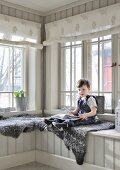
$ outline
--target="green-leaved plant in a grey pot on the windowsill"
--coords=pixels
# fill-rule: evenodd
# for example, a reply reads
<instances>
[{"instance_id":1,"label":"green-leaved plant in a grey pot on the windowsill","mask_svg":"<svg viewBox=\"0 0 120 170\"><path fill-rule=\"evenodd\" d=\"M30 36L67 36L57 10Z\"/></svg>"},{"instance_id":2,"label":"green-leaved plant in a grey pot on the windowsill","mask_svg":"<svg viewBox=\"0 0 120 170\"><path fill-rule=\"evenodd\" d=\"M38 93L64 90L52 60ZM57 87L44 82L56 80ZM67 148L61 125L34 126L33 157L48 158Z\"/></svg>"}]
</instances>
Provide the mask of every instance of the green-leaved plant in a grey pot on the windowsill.
<instances>
[{"instance_id":1,"label":"green-leaved plant in a grey pot on the windowsill","mask_svg":"<svg viewBox=\"0 0 120 170\"><path fill-rule=\"evenodd\" d=\"M23 90L14 91L13 95L16 101L16 110L17 111L26 111L27 108L27 98Z\"/></svg>"}]
</instances>

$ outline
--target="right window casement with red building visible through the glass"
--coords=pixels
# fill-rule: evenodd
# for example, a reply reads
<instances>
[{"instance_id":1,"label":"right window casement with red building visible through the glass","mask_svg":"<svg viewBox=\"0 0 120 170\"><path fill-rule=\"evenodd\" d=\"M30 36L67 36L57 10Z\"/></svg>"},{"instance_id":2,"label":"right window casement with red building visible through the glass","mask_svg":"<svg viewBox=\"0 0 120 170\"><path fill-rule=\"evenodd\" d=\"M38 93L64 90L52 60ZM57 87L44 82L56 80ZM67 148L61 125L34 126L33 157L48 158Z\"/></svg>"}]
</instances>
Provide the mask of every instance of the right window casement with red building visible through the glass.
<instances>
[{"instance_id":1,"label":"right window casement with red building visible through the glass","mask_svg":"<svg viewBox=\"0 0 120 170\"><path fill-rule=\"evenodd\" d=\"M88 43L88 78L92 93L105 96L105 109L112 109L112 40L111 35Z\"/></svg>"}]
</instances>

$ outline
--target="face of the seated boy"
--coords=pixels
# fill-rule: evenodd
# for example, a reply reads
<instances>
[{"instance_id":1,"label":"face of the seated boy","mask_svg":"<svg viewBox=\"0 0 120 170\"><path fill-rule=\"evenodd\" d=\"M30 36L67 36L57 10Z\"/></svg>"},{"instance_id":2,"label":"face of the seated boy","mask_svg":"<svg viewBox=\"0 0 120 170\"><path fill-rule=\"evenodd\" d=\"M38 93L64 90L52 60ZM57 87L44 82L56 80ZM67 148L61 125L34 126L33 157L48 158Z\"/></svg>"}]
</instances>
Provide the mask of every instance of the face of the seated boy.
<instances>
[{"instance_id":1,"label":"face of the seated boy","mask_svg":"<svg viewBox=\"0 0 120 170\"><path fill-rule=\"evenodd\" d=\"M86 85L83 85L82 87L78 88L78 94L81 96L81 97L86 97L90 92L90 89L86 86Z\"/></svg>"}]
</instances>

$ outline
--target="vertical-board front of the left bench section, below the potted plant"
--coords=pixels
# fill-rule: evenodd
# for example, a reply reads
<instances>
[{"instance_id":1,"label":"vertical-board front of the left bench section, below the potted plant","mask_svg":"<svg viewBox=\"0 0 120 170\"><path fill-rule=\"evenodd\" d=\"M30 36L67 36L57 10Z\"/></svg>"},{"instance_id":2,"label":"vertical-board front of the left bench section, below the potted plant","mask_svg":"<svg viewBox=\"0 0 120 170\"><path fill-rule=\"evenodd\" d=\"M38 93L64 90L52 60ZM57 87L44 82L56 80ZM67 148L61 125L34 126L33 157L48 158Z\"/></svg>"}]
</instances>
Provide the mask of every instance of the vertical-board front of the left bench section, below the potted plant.
<instances>
[{"instance_id":1,"label":"vertical-board front of the left bench section, below the potted plant","mask_svg":"<svg viewBox=\"0 0 120 170\"><path fill-rule=\"evenodd\" d=\"M0 157L35 150L35 131L22 133L18 138L0 134Z\"/></svg>"}]
</instances>

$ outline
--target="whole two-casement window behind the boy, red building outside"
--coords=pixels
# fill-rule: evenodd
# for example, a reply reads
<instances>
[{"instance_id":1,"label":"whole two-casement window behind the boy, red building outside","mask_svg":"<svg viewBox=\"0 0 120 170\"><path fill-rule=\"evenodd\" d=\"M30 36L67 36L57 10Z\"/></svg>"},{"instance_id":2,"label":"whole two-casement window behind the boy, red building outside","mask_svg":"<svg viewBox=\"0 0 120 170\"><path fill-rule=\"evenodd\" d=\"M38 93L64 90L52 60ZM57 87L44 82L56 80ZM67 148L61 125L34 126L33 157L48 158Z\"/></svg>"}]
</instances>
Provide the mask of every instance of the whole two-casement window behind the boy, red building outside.
<instances>
[{"instance_id":1,"label":"whole two-casement window behind the boy, red building outside","mask_svg":"<svg viewBox=\"0 0 120 170\"><path fill-rule=\"evenodd\" d=\"M85 55L82 53L83 50L85 50ZM76 82L82 77L88 77L92 86L92 94L105 96L105 109L112 110L111 66L111 35L85 42L63 44L61 46L60 106L76 106L78 97Z\"/></svg>"}]
</instances>

